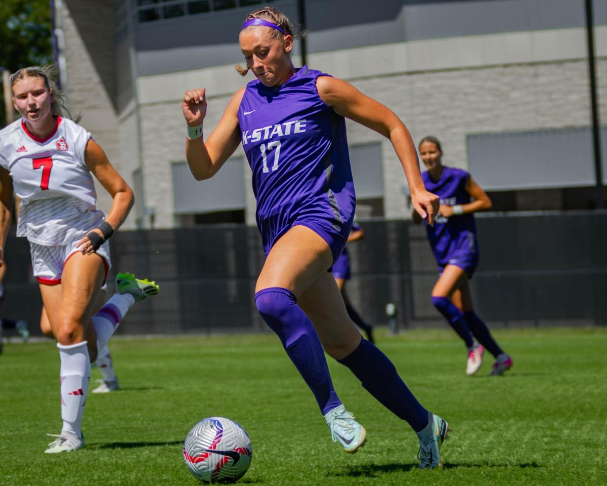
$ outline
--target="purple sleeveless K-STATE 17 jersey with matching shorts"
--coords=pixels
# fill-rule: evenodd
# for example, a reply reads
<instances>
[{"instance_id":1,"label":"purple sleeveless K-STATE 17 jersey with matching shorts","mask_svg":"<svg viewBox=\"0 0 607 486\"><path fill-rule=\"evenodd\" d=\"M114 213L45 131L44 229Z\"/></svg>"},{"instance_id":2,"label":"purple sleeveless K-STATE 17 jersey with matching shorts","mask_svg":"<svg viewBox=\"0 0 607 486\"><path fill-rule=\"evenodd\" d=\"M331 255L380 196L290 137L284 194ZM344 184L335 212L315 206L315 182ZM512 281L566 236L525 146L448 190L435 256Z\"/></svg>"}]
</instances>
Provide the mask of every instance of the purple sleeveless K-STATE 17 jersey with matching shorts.
<instances>
[{"instance_id":1,"label":"purple sleeveless K-STATE 17 jersey with matching shorts","mask_svg":"<svg viewBox=\"0 0 607 486\"><path fill-rule=\"evenodd\" d=\"M257 226L266 255L282 234L307 225L345 242L356 197L345 119L320 99L302 67L282 86L246 85L238 110L242 146L253 171ZM330 239L330 238L329 238ZM341 248L333 248L334 258Z\"/></svg>"}]
</instances>

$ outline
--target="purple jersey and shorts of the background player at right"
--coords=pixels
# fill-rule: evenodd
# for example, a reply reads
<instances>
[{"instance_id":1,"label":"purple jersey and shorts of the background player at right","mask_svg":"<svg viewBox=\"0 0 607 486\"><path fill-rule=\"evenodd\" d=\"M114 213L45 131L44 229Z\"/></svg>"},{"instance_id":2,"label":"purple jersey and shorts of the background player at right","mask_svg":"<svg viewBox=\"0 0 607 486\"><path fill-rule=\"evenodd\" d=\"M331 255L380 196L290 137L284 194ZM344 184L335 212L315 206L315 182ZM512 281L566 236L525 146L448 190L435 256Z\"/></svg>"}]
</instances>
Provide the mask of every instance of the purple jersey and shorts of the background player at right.
<instances>
[{"instance_id":1,"label":"purple jersey and shorts of the background player at right","mask_svg":"<svg viewBox=\"0 0 607 486\"><path fill-rule=\"evenodd\" d=\"M439 180L432 179L427 171L421 177L426 190L440 197L442 205L455 206L470 202L470 194L466 191L470 174L466 171L444 167ZM449 218L438 214L434 219L434 226L430 226L425 220L424 222L432 252L439 266L455 264L459 259L478 253L476 225L472 214L459 214Z\"/></svg>"}]
</instances>

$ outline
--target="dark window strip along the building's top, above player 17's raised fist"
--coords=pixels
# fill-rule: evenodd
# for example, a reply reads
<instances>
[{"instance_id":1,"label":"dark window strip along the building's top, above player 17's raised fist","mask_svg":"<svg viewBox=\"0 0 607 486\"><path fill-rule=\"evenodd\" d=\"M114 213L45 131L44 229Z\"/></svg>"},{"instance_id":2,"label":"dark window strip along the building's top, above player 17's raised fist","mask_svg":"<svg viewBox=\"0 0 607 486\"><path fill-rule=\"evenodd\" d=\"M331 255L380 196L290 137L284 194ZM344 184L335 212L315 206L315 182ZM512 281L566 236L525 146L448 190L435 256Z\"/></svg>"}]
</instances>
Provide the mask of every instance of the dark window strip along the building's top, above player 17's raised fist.
<instances>
[{"instance_id":1,"label":"dark window strip along the building's top, above player 17's raised fist","mask_svg":"<svg viewBox=\"0 0 607 486\"><path fill-rule=\"evenodd\" d=\"M132 0L135 2L137 21L155 22L184 15L220 12L222 10L269 4L274 0Z\"/></svg>"}]
</instances>

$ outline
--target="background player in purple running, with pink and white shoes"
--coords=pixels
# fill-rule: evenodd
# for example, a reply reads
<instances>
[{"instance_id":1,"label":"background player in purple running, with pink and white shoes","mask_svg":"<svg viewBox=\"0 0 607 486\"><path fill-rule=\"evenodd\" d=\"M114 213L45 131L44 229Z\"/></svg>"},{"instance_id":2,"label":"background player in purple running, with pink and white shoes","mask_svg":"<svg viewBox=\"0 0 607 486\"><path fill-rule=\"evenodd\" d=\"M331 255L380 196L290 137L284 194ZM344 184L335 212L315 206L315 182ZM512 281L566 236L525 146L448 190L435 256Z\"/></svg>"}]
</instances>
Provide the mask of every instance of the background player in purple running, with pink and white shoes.
<instances>
[{"instance_id":1,"label":"background player in purple running, with pink and white shoes","mask_svg":"<svg viewBox=\"0 0 607 486\"><path fill-rule=\"evenodd\" d=\"M426 225L430 246L441 271L432 290L432 303L466 343L466 373L473 375L478 371L484 349L487 349L495 357L491 374L501 375L512 367L512 358L498 346L489 328L474 312L468 283L478 265L473 213L489 209L491 200L469 173L443 165L443 149L436 137L421 140L419 155L428 168L422 174L424 186L441 197L435 224ZM421 222L415 211L413 220Z\"/></svg>"}]
</instances>

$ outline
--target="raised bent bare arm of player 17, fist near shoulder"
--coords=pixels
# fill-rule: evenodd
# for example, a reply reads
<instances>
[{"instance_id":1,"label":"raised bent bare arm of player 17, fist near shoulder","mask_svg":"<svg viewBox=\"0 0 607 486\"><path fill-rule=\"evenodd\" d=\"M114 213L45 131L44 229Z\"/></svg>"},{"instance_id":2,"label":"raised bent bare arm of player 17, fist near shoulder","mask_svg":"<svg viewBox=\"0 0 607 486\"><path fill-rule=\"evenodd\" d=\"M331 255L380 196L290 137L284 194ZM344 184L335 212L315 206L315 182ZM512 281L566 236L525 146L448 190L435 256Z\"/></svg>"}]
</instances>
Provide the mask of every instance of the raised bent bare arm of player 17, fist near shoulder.
<instances>
[{"instance_id":1,"label":"raised bent bare arm of player 17, fist near shoulder","mask_svg":"<svg viewBox=\"0 0 607 486\"><path fill-rule=\"evenodd\" d=\"M241 89L232 96L222 118L208 139L204 136L186 139L186 159L192 176L196 180L209 179L222 168L240 143L238 108L245 93ZM185 92L181 101L181 110L188 126L202 126L206 115L205 89L192 89Z\"/></svg>"}]
</instances>

